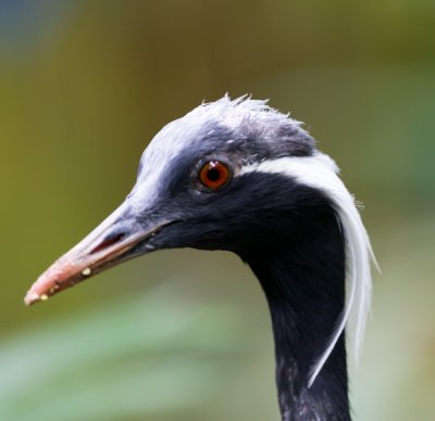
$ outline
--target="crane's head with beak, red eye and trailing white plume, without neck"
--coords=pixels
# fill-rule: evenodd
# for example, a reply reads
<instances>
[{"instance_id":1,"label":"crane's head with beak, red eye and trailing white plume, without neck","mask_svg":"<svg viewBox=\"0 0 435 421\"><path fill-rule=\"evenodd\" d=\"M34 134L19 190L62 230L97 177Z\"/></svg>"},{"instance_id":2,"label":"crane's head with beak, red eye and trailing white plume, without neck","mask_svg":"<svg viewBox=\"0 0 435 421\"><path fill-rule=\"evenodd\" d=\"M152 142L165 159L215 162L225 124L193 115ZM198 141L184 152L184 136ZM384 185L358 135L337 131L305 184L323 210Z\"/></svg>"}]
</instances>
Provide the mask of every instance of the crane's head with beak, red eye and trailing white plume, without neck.
<instances>
[{"instance_id":1,"label":"crane's head with beak, red eye and trailing white plume, without neck","mask_svg":"<svg viewBox=\"0 0 435 421\"><path fill-rule=\"evenodd\" d=\"M322 209L334 212L343 231L346 303L314 379L349 316L359 348L373 255L333 160L299 122L265 101L226 95L166 125L145 150L125 201L37 279L25 303L157 250L226 250L249 261L253 254L278 253L284 239L297 247L320 228Z\"/></svg>"}]
</instances>

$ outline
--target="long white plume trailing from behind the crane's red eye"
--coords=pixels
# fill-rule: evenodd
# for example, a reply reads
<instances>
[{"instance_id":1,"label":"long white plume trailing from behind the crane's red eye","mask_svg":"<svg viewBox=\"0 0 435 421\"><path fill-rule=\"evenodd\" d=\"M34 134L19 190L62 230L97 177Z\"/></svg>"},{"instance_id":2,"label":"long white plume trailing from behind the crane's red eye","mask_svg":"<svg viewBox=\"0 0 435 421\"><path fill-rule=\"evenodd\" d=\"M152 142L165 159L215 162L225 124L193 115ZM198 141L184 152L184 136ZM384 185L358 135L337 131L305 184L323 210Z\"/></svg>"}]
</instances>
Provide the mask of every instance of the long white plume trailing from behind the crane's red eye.
<instances>
[{"instance_id":1,"label":"long white plume trailing from behind the crane's red eye","mask_svg":"<svg viewBox=\"0 0 435 421\"><path fill-rule=\"evenodd\" d=\"M372 279L370 263L375 260L369 235L362 224L356 202L338 177L338 167L327 155L316 153L307 157L283 157L243 168L240 174L260 171L283 174L300 183L324 191L332 200L346 241L346 303L328 345L312 367L310 387L330 357L345 326L351 326L355 357L358 362L370 311Z\"/></svg>"}]
</instances>

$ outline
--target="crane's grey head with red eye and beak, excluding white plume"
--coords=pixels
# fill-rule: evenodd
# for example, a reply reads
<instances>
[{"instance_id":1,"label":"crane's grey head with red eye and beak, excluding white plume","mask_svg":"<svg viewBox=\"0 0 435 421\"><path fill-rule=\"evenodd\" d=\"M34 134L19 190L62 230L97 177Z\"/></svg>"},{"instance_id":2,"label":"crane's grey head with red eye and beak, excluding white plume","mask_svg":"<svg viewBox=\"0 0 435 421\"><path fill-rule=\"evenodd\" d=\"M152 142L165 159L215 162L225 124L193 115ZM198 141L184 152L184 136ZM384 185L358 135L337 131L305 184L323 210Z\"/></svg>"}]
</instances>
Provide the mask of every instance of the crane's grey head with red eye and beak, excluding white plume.
<instances>
[{"instance_id":1,"label":"crane's grey head with red eye and beak, excluding white plume","mask_svg":"<svg viewBox=\"0 0 435 421\"><path fill-rule=\"evenodd\" d=\"M263 102L225 98L194 110L156 136L124 203L41 275L26 303L156 250L241 254L262 246L278 234L276 213L298 208L310 195L288 178L283 191L279 171L265 177L258 166L313 151L297 122Z\"/></svg>"}]
</instances>

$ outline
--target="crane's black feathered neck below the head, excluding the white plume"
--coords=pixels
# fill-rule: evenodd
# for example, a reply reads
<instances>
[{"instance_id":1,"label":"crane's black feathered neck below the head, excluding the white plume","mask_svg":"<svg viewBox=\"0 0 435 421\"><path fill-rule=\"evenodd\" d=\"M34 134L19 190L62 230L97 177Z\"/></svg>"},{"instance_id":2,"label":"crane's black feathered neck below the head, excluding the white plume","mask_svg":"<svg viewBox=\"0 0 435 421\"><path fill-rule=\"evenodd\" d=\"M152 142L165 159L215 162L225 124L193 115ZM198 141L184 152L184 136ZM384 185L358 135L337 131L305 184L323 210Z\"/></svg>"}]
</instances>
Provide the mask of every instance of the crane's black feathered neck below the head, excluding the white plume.
<instances>
[{"instance_id":1,"label":"crane's black feathered neck below the head, excluding the white plume","mask_svg":"<svg viewBox=\"0 0 435 421\"><path fill-rule=\"evenodd\" d=\"M285 231L285 228L284 228ZM264 242L245 258L268 297L275 339L276 384L283 421L350 420L345 335L311 387L308 381L325 350L345 303L345 252L332 212L315 227ZM288 238L291 238L288 240Z\"/></svg>"}]
</instances>

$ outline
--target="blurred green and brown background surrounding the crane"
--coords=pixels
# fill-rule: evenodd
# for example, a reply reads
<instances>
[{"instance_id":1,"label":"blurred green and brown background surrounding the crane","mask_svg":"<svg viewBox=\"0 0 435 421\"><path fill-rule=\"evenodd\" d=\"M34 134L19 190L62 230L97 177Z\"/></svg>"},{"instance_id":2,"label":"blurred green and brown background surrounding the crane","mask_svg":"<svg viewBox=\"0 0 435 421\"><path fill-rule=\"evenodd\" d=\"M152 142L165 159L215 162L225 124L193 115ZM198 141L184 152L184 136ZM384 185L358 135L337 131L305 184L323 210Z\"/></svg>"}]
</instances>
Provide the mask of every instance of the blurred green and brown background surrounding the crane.
<instances>
[{"instance_id":1,"label":"blurred green and brown background surrounding the crane","mask_svg":"<svg viewBox=\"0 0 435 421\"><path fill-rule=\"evenodd\" d=\"M0 0L0 420L275 420L262 292L170 251L23 296L129 191L165 123L270 98L339 164L375 275L356 420L435 419L435 2Z\"/></svg>"}]
</instances>

